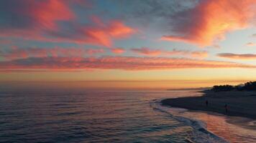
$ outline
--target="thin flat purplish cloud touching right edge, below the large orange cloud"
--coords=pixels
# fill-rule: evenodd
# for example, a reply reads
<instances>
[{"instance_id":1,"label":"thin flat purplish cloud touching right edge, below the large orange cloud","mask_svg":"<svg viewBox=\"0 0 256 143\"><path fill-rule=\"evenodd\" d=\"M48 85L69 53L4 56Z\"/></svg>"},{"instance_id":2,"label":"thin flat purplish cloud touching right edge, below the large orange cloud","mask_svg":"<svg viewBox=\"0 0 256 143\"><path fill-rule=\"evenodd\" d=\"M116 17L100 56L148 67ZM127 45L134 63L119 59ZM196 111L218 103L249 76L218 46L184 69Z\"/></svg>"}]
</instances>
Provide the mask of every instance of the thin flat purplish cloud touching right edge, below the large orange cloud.
<instances>
[{"instance_id":1,"label":"thin flat purplish cloud touching right edge, below the large orange cloud","mask_svg":"<svg viewBox=\"0 0 256 143\"><path fill-rule=\"evenodd\" d=\"M244 60L256 59L256 54L221 53L221 54L217 54L217 56L221 58L228 58L228 59L244 59Z\"/></svg>"}]
</instances>

